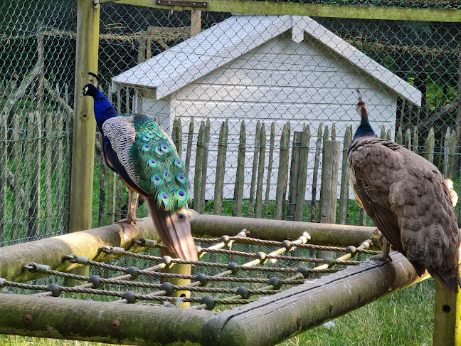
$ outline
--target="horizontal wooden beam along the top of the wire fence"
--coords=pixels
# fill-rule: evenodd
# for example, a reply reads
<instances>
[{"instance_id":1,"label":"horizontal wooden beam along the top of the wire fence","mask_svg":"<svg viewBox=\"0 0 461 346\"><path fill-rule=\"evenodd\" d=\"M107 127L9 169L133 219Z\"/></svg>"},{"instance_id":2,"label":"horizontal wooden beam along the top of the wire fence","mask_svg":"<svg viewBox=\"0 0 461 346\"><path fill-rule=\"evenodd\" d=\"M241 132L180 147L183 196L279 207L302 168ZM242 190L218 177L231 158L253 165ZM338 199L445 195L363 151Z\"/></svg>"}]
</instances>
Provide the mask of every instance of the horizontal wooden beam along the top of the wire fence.
<instances>
[{"instance_id":1,"label":"horizontal wooden beam along the top of the wire fence","mask_svg":"<svg viewBox=\"0 0 461 346\"><path fill-rule=\"evenodd\" d=\"M113 0L100 0L100 3ZM451 9L408 9L404 7L302 4L295 2L206 0L203 11L234 12L243 14L272 14L290 16L387 19L391 21L445 21L460 22L461 11ZM190 6L163 6L152 0L119 0L119 4L156 7L174 11L196 10Z\"/></svg>"}]
</instances>

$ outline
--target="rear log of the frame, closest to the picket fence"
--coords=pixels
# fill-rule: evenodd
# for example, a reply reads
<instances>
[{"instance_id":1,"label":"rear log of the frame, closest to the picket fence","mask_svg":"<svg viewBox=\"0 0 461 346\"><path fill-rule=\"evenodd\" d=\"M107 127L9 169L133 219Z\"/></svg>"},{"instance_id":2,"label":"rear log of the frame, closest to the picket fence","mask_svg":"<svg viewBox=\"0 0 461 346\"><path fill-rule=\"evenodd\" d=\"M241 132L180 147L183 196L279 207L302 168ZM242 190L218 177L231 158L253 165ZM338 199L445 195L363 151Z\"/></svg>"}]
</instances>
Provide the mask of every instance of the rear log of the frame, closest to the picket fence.
<instances>
[{"instance_id":1,"label":"rear log of the frame, closest to the picket fence","mask_svg":"<svg viewBox=\"0 0 461 346\"><path fill-rule=\"evenodd\" d=\"M297 239L303 232L310 234L312 242L328 246L359 246L364 240L376 238L376 227L319 224L317 222L254 219L235 216L202 214L191 219L192 234L219 238L233 236L247 229L250 237L284 241ZM376 238L377 240L377 238ZM378 243L374 243L378 246Z\"/></svg>"}]
</instances>

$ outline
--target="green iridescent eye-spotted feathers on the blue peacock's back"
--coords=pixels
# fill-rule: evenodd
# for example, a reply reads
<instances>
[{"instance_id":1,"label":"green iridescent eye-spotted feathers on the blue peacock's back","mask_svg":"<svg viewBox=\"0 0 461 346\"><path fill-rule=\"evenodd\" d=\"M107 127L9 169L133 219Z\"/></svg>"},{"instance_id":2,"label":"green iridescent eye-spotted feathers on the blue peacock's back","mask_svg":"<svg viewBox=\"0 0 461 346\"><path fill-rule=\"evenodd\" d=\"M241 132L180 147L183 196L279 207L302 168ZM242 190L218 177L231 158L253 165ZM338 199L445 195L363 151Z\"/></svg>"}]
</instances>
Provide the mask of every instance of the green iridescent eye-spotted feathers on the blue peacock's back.
<instances>
[{"instance_id":1,"label":"green iridescent eye-spotted feathers on the blue peacock's back","mask_svg":"<svg viewBox=\"0 0 461 346\"><path fill-rule=\"evenodd\" d=\"M136 115L133 125L136 138L129 153L139 174L139 187L157 200L159 209L187 207L190 182L174 144L157 122L145 115Z\"/></svg>"}]
</instances>

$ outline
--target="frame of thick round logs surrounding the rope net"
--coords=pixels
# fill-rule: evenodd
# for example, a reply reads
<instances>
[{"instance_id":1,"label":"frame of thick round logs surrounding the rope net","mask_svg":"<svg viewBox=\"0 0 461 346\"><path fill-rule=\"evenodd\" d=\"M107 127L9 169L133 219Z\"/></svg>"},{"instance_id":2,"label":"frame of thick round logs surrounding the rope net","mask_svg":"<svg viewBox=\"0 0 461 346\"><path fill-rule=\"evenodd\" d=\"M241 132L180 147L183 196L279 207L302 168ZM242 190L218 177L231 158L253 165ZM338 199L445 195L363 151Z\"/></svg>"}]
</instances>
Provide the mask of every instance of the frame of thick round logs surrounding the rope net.
<instances>
[{"instance_id":1,"label":"frame of thick round logs surrounding the rope net","mask_svg":"<svg viewBox=\"0 0 461 346\"><path fill-rule=\"evenodd\" d=\"M363 236L376 236L374 227L208 216L194 211L191 211L191 218L196 236L216 235L223 230L235 234L242 224L252 236L262 235L260 230L267 228L278 229L280 238L293 238L309 231L315 238L323 239L319 243L334 242L339 246L349 241L358 244ZM211 234L211 229L207 228L210 224L220 225L220 228ZM281 224L286 227L280 229ZM347 237L334 241L337 234ZM272 232L265 235L263 238L270 239ZM107 261L115 256L101 252L100 246L139 252L145 250L134 243L139 238L159 239L149 218L142 219L136 226L113 224L0 248L0 258L5 258L0 276L16 282L43 276L23 270L30 262L46 263L52 270L71 270L78 265L62 259L63 253L69 251L88 256L92 261ZM48 251L50 248L53 251ZM3 295L0 333L124 345L152 345L152 342L156 345L189 345L189 342L190 345L275 345L428 277L427 274L418 277L401 253L393 253L392 257L393 262L366 261L222 313Z\"/></svg>"}]
</instances>

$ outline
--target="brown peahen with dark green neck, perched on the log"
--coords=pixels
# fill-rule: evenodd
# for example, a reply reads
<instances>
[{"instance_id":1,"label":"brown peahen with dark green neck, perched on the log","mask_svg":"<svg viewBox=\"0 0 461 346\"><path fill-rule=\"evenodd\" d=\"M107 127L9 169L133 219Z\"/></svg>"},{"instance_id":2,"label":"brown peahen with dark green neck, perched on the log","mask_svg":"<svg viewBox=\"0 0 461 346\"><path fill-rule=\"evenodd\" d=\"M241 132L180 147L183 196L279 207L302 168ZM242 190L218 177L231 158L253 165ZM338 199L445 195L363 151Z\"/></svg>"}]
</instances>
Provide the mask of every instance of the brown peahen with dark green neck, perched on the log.
<instances>
[{"instance_id":1,"label":"brown peahen with dark green neck, perched on the log","mask_svg":"<svg viewBox=\"0 0 461 346\"><path fill-rule=\"evenodd\" d=\"M461 238L447 182L428 160L376 137L357 93L361 122L347 150L349 182L357 204L387 239L376 259L392 261L390 243L419 276L427 269L445 290L457 293Z\"/></svg>"}]
</instances>

